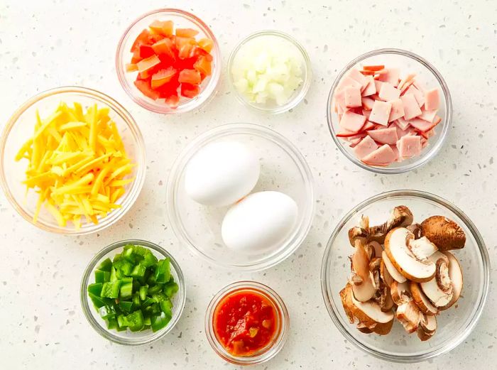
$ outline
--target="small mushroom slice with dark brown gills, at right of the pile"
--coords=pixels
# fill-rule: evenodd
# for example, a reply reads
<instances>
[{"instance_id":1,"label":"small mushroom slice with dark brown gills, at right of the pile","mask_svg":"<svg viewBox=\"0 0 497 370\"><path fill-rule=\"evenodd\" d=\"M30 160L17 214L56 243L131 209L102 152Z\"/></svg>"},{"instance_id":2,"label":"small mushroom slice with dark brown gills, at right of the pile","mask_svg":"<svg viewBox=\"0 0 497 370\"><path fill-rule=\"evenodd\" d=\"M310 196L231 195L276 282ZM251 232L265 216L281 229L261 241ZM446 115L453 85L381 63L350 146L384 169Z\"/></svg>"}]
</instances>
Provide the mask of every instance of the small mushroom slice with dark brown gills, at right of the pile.
<instances>
[{"instance_id":1,"label":"small mushroom slice with dark brown gills, at right of the pile","mask_svg":"<svg viewBox=\"0 0 497 370\"><path fill-rule=\"evenodd\" d=\"M449 266L444 259L439 259L436 264L435 277L421 283L421 289L435 307L444 307L452 300L452 281L449 277Z\"/></svg>"}]
</instances>

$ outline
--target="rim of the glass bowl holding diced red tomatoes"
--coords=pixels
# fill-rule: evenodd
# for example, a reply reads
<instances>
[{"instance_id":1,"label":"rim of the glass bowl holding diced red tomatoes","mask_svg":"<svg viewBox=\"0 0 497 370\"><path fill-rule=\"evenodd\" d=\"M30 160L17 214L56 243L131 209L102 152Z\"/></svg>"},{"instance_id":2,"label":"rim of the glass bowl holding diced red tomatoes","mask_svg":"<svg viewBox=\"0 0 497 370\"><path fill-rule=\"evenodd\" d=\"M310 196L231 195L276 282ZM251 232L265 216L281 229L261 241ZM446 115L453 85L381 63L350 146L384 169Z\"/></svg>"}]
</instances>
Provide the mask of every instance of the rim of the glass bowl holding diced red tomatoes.
<instances>
[{"instance_id":1,"label":"rim of the glass bowl holding diced red tomatoes","mask_svg":"<svg viewBox=\"0 0 497 370\"><path fill-rule=\"evenodd\" d=\"M203 87L203 89L200 91L200 94L198 95L200 97L200 95L204 94L204 97L202 97L202 99L198 99L195 104L191 105L190 107L187 107L186 109L184 107L188 103L190 103L191 100L185 102L184 104L178 105L178 107L175 109L171 109L170 107L168 107L167 104L164 104L162 108L156 107L153 104L146 102L146 100L142 100L136 97L135 94L131 92L131 88L128 86L128 83L126 82L126 72L124 72L122 67L124 62L123 60L124 40L138 22L142 21L144 18L148 16L154 16L159 13L169 13L175 16L179 16L180 18L187 19L187 21L190 21L194 23L196 26L199 26L202 32L204 32L209 38L211 38L212 41L214 41L214 48L212 48L212 57L214 58L214 68L212 69L212 75L210 76L210 80L209 82L207 82L207 85ZM221 77L222 58L217 38L216 36L214 36L214 33L212 32L211 28L207 25L207 23L205 23L204 21L202 21L202 19L195 16L195 14L190 13L189 11L184 11L182 9L175 9L175 8L160 8L148 11L147 13L143 13L141 16L139 16L134 21L132 21L131 24L126 28L124 33L122 33L116 48L115 67L116 67L116 74L119 80L119 84L124 89L126 94L131 98L131 100L133 100L133 102L138 104L140 107L147 109L148 111L153 111L154 113L159 113L159 114L181 114L202 107L202 105L207 104L207 102L209 102L212 99L212 97L214 97L214 93L216 92L216 87L219 84L219 79Z\"/></svg>"}]
</instances>

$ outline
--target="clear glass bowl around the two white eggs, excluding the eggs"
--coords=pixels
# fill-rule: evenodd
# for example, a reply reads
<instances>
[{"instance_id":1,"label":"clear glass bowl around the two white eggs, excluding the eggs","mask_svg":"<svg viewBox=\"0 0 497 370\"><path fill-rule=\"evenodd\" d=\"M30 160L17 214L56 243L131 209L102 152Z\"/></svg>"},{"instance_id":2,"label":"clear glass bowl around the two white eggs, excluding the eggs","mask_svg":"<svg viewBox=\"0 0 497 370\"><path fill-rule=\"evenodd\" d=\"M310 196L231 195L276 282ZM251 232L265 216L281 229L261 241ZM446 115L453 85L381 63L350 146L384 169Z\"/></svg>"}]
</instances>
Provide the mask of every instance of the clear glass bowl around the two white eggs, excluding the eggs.
<instances>
[{"instance_id":1,"label":"clear glass bowl around the two white eggs, excluding the eggs","mask_svg":"<svg viewBox=\"0 0 497 370\"><path fill-rule=\"evenodd\" d=\"M216 141L239 141L256 153L261 176L252 192L276 190L297 202L297 224L271 251L240 254L222 241L221 224L228 207L207 207L185 191L185 167L200 148ZM302 154L277 132L256 124L226 124L198 136L175 160L169 175L167 205L170 224L182 244L210 263L224 268L258 271L280 263L304 241L314 215L312 173Z\"/></svg>"}]
</instances>

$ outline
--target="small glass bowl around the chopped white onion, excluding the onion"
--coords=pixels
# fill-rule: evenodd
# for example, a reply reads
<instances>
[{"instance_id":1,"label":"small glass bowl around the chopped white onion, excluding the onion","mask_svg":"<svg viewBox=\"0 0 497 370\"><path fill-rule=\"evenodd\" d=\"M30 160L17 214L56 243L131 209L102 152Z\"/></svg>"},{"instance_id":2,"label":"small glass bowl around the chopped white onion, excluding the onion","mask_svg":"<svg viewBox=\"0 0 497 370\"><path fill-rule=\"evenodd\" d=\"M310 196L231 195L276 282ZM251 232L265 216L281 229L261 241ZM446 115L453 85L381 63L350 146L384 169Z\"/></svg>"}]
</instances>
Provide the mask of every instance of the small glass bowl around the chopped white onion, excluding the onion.
<instances>
[{"instance_id":1,"label":"small glass bowl around the chopped white onion, excluding the onion","mask_svg":"<svg viewBox=\"0 0 497 370\"><path fill-rule=\"evenodd\" d=\"M296 50L298 50L302 58L301 61L302 83L300 84L299 87L297 87L292 97L290 97L288 102L284 105L278 105L275 102L272 102L272 104L258 104L258 103L249 102L234 86L234 80L233 80L233 74L231 73L231 68L236 62L236 58L239 56L239 54L241 54L241 51L243 51L242 48L245 45L251 43L251 41L256 40L256 38L276 38L278 40L283 40L283 42L288 43L289 47L293 47ZM231 55L229 55L227 75L229 77L229 82L231 84L231 87L234 90L235 96L239 100L239 102L246 105L247 107L252 107L259 111L264 111L270 114L280 114L296 107L297 104L302 102L302 99L304 99L305 94L307 94L307 91L309 90L312 81L311 62L309 55L307 55L307 51L305 51L305 48L297 40L295 40L295 38L288 35L287 33L283 33L280 31L273 31L273 30L258 31L255 33L251 33L251 35L241 40L235 46L235 48L231 52Z\"/></svg>"}]
</instances>

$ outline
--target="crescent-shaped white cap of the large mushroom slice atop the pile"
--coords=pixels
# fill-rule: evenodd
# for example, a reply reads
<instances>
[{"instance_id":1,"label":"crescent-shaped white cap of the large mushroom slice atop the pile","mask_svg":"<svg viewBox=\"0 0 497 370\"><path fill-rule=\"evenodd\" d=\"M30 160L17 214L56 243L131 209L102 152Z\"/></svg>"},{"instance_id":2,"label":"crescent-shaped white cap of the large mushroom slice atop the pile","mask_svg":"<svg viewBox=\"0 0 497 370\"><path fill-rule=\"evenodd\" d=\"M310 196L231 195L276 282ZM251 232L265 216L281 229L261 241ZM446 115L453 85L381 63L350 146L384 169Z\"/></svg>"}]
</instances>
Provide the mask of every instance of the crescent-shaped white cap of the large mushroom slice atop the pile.
<instances>
[{"instance_id":1,"label":"crescent-shaped white cap of the large mushroom slice atop the pile","mask_svg":"<svg viewBox=\"0 0 497 370\"><path fill-rule=\"evenodd\" d=\"M397 227L388 232L385 239L388 259L405 278L417 283L430 281L435 275L435 263L427 258L417 259L409 249L412 240L414 240L413 233L405 227Z\"/></svg>"}]
</instances>

